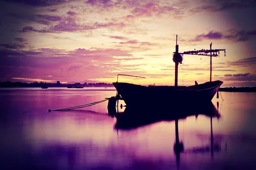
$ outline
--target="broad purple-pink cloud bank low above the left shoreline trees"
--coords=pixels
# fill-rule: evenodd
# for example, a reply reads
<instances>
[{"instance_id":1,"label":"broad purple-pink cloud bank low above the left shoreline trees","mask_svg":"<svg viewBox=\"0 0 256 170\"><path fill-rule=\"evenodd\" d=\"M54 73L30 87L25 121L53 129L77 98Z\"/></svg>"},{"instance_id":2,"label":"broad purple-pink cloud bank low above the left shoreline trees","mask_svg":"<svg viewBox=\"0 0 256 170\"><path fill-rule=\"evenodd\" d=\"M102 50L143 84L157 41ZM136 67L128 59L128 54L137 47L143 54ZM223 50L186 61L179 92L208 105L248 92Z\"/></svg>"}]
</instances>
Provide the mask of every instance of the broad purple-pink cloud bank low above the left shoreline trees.
<instances>
[{"instance_id":1,"label":"broad purple-pink cloud bank low above the left shoreline trees","mask_svg":"<svg viewBox=\"0 0 256 170\"><path fill-rule=\"evenodd\" d=\"M112 48L78 48L74 50L38 48L33 50L0 50L0 77L47 77L52 75L59 81L81 81L102 77L113 72L138 70L144 64L128 64L125 61L140 60L131 51ZM93 61L97 62L93 62ZM81 65L81 63L83 63ZM75 74L74 74L74 73ZM87 73L87 74L84 74ZM48 77L51 80L51 77ZM48 79L45 78L45 79ZM9 79L10 80L10 79Z\"/></svg>"}]
</instances>

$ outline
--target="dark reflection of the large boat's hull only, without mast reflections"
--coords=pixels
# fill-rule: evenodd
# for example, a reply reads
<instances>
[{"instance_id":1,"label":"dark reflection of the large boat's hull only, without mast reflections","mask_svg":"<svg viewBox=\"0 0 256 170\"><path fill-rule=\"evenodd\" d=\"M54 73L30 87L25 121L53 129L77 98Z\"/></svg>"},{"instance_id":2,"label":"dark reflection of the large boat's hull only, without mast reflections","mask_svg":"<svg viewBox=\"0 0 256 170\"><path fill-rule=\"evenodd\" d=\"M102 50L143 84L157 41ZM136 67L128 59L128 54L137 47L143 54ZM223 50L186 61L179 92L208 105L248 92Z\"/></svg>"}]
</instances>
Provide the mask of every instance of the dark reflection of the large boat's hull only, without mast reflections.
<instances>
[{"instance_id":1,"label":"dark reflection of the large boat's hull only, without mast reflections","mask_svg":"<svg viewBox=\"0 0 256 170\"><path fill-rule=\"evenodd\" d=\"M141 108L126 107L121 113L109 112L109 115L116 116L116 129L131 129L154 122L184 119L187 116L192 115L197 118L199 114L217 118L220 117L218 110L212 102L200 103L200 105L184 104L175 106L175 108L177 109L166 106Z\"/></svg>"}]
</instances>

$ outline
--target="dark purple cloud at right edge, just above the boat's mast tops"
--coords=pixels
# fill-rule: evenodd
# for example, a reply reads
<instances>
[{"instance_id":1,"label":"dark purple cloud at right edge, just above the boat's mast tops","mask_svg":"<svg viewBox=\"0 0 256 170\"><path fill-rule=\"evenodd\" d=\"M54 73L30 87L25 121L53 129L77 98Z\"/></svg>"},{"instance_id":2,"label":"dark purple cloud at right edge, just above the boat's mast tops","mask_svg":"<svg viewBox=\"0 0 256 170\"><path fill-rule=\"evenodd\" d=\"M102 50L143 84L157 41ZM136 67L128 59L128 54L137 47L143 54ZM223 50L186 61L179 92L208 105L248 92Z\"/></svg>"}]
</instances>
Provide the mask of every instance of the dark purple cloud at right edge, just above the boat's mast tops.
<instances>
[{"instance_id":1,"label":"dark purple cloud at right edge, just above the boat's mast tops","mask_svg":"<svg viewBox=\"0 0 256 170\"><path fill-rule=\"evenodd\" d=\"M226 33L221 33L218 31L209 31L207 34L200 34L197 35L194 39L191 39L189 41L202 41L204 39L208 40L233 40L233 41L247 41L251 37L256 36L256 30L252 31L245 31L245 30L228 30Z\"/></svg>"}]
</instances>

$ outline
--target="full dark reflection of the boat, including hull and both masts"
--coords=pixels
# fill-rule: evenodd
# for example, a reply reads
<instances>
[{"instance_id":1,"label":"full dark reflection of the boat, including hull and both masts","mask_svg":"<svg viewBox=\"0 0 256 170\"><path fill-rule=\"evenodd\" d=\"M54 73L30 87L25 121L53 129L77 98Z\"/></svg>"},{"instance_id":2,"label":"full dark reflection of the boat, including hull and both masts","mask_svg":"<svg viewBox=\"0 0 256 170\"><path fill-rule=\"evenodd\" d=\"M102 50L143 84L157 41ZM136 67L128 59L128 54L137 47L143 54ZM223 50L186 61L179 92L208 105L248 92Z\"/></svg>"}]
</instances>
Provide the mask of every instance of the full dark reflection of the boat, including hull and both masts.
<instances>
[{"instance_id":1,"label":"full dark reflection of the boat, including hull and both masts","mask_svg":"<svg viewBox=\"0 0 256 170\"><path fill-rule=\"evenodd\" d=\"M180 106L181 107L181 106ZM218 108L218 102L217 102ZM111 110L109 110L111 111ZM113 110L112 110L113 111ZM127 107L125 110L120 113L110 113L110 115L116 116L116 125L115 129L134 129L137 127L141 127L144 125L149 125L154 122L160 121L175 121L175 143L174 143L174 152L176 155L177 165L179 165L180 161L180 153L211 153L213 158L214 152L221 151L221 144L219 142L215 142L213 140L213 132L212 132L212 119L219 119L220 114L212 102L200 103L200 105L189 104L183 105L177 111L172 111L169 108L158 107L158 108L132 108ZM179 119L185 119L187 116L195 116L198 117L199 114L209 116L210 117L210 126L211 126L211 142L208 145L201 147L192 147L192 148L184 148L183 142L179 140L179 132L178 132L178 122Z\"/></svg>"}]
</instances>

